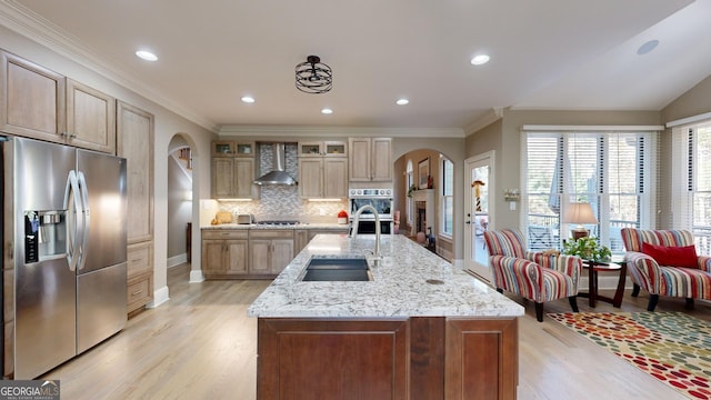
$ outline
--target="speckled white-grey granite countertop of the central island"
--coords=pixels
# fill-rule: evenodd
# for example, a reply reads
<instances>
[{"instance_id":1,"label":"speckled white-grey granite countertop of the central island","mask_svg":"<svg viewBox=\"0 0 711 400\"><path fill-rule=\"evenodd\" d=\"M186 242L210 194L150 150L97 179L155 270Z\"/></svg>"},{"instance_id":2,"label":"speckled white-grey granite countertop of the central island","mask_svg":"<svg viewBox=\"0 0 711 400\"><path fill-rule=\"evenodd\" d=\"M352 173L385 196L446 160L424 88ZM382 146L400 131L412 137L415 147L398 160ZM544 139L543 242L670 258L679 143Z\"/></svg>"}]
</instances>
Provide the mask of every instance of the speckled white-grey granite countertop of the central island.
<instances>
[{"instance_id":1,"label":"speckled white-grey granite countertop of the central island","mask_svg":"<svg viewBox=\"0 0 711 400\"><path fill-rule=\"evenodd\" d=\"M261 318L520 317L523 307L401 234L381 240L365 282L303 282L311 257L363 257L374 234L318 234L249 308ZM428 283L440 280L441 284Z\"/></svg>"}]
</instances>

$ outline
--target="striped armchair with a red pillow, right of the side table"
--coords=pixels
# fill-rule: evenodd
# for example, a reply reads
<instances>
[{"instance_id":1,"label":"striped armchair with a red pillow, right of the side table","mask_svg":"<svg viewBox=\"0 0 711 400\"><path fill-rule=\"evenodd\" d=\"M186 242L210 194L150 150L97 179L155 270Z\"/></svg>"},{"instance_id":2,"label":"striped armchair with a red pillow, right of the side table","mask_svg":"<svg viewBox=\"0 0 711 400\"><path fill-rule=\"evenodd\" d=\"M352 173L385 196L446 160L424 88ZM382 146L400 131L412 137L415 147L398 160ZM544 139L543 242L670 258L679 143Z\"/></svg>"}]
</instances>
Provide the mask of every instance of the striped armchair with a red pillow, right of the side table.
<instances>
[{"instance_id":1,"label":"striped armchair with a red pillow, right of the side table","mask_svg":"<svg viewBox=\"0 0 711 400\"><path fill-rule=\"evenodd\" d=\"M624 228L622 241L627 249L628 273L632 278L632 297L639 294L640 288L648 291L647 310L654 311L660 296L684 298L688 308L693 308L693 299L711 300L711 257L695 256L694 251L690 262L683 262L685 257L678 256L673 262L663 262L660 256L649 250L654 246L691 247L694 239L690 231Z\"/></svg>"}]
</instances>

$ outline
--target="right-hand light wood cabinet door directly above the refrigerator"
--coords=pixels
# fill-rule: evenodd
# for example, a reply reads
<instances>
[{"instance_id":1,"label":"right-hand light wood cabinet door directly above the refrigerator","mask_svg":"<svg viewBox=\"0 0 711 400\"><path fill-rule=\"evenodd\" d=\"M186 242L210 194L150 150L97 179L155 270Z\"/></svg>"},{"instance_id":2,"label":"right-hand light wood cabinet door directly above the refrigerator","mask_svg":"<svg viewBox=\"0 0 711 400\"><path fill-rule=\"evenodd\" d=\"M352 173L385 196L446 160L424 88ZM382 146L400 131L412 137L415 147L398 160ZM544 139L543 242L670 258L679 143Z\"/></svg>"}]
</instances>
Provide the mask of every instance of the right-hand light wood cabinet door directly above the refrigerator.
<instances>
[{"instance_id":1,"label":"right-hand light wood cabinet door directly above the refrigerator","mask_svg":"<svg viewBox=\"0 0 711 400\"><path fill-rule=\"evenodd\" d=\"M113 154L116 99L67 79L67 143Z\"/></svg>"}]
</instances>

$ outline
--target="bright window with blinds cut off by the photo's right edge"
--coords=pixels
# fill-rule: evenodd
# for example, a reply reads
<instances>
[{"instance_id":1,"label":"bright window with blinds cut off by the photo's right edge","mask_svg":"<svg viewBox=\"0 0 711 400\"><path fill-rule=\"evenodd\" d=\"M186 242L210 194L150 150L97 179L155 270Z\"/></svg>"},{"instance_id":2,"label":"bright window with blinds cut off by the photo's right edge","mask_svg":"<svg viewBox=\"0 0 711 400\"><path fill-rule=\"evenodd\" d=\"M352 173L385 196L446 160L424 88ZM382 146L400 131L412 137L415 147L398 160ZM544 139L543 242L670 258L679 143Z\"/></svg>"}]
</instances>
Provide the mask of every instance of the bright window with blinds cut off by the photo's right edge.
<instances>
[{"instance_id":1,"label":"bright window with blinds cut off by the photo's right edge","mask_svg":"<svg viewBox=\"0 0 711 400\"><path fill-rule=\"evenodd\" d=\"M689 229L697 251L711 254L711 121L672 131L673 227ZM679 160L679 162L677 162Z\"/></svg>"}]
</instances>

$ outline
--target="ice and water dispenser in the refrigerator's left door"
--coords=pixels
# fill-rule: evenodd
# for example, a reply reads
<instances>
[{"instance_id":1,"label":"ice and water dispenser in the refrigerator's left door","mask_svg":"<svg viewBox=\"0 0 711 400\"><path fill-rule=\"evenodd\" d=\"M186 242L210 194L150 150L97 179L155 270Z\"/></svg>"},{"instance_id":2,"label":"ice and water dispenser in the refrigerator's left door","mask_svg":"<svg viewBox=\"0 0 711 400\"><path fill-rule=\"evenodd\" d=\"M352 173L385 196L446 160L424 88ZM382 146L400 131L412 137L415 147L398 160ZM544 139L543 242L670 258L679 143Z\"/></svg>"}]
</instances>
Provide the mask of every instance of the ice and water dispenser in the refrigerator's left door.
<instances>
[{"instance_id":1,"label":"ice and water dispenser in the refrigerator's left door","mask_svg":"<svg viewBox=\"0 0 711 400\"><path fill-rule=\"evenodd\" d=\"M67 253L67 211L24 212L24 263Z\"/></svg>"}]
</instances>

